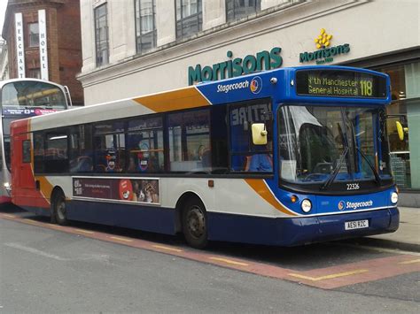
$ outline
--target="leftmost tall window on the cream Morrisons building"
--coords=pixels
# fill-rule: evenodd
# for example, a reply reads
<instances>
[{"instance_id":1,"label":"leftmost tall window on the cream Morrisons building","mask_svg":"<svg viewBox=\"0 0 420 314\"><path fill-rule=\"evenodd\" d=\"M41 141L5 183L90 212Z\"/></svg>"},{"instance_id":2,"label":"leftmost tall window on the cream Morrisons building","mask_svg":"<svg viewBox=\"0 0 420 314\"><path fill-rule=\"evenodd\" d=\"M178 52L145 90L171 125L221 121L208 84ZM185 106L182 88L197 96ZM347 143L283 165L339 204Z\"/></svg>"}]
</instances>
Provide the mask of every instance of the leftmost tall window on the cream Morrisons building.
<instances>
[{"instance_id":1,"label":"leftmost tall window on the cream Morrisons building","mask_svg":"<svg viewBox=\"0 0 420 314\"><path fill-rule=\"evenodd\" d=\"M105 10L101 12L101 10ZM100 14L100 15L99 15ZM95 51L97 66L109 64L109 32L108 32L108 6L107 3L98 5L93 11L93 22L95 29ZM104 27L99 24L101 19L105 20ZM101 39L101 30L104 29L104 39ZM105 52L105 54L104 54Z\"/></svg>"}]
</instances>

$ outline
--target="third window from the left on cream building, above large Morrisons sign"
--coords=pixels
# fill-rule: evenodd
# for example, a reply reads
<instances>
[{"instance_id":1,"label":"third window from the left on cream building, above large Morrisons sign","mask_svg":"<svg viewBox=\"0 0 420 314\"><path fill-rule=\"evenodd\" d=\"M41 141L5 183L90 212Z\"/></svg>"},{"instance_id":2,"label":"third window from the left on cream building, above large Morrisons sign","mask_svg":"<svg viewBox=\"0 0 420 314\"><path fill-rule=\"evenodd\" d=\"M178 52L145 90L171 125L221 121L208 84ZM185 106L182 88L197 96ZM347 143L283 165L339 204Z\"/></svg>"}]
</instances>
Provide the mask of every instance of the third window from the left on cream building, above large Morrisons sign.
<instances>
[{"instance_id":1,"label":"third window from the left on cream building, above large Morrisons sign","mask_svg":"<svg viewBox=\"0 0 420 314\"><path fill-rule=\"evenodd\" d=\"M184 11L191 11L191 4L197 4L197 11L185 15ZM179 4L179 5L178 5ZM188 10L183 10L183 7ZM179 8L179 10L178 10ZM187 28L188 25L190 28ZM175 31L176 39L190 37L203 29L202 0L175 0Z\"/></svg>"}]
</instances>

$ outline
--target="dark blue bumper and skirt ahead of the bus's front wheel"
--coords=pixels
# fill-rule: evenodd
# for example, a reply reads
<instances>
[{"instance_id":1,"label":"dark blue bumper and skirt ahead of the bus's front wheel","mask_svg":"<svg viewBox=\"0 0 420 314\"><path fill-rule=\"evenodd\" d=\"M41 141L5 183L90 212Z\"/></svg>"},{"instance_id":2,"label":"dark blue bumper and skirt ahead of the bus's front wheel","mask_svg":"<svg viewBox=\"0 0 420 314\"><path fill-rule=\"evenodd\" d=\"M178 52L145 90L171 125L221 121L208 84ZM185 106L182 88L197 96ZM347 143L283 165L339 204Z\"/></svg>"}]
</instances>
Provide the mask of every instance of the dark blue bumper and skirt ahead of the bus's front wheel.
<instances>
[{"instance_id":1,"label":"dark blue bumper and skirt ahead of the bus's front wheel","mask_svg":"<svg viewBox=\"0 0 420 314\"><path fill-rule=\"evenodd\" d=\"M209 219L212 220L211 217ZM219 217L217 220L219 221L218 227L209 229L208 234L210 240L291 247L322 241L335 241L373 234L393 233L398 229L400 224L400 212L395 207L383 210L315 217ZM359 220L368 220L369 226L346 230L345 225L347 221ZM209 225L214 226L214 224Z\"/></svg>"}]
</instances>

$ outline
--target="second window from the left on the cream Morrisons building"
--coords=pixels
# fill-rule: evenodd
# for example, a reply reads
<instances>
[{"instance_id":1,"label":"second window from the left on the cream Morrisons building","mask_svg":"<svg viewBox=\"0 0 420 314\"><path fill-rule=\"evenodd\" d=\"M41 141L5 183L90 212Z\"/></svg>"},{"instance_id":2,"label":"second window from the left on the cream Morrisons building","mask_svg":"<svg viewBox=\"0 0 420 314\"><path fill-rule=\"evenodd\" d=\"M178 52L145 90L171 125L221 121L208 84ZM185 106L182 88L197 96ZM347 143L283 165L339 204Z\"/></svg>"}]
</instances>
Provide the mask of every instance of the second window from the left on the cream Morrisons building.
<instances>
[{"instance_id":1,"label":"second window from the left on the cream Morrisons building","mask_svg":"<svg viewBox=\"0 0 420 314\"><path fill-rule=\"evenodd\" d=\"M142 8L144 10L150 7L144 8L145 3L152 4L152 14L142 16ZM156 0L134 0L134 11L135 11L135 24L136 24L136 52L144 53L152 50L156 47L157 32L156 32ZM150 20L152 16L152 30L144 30L144 19ZM150 23L148 23L150 24ZM149 27L150 28L150 27Z\"/></svg>"}]
</instances>

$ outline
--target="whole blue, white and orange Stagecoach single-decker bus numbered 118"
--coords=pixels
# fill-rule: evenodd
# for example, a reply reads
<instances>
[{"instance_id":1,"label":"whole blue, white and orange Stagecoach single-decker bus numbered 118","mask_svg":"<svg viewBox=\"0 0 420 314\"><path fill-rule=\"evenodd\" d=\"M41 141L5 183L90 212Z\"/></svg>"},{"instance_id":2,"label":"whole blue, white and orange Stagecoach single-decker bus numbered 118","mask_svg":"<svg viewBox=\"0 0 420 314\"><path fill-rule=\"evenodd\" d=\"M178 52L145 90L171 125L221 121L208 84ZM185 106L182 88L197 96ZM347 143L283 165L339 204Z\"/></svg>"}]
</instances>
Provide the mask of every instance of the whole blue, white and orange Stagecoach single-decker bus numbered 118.
<instances>
[{"instance_id":1,"label":"whole blue, white and orange Stagecoach single-decker bus numbered 118","mask_svg":"<svg viewBox=\"0 0 420 314\"><path fill-rule=\"evenodd\" d=\"M12 123L12 201L207 241L293 246L395 231L390 80L281 68Z\"/></svg>"}]
</instances>

